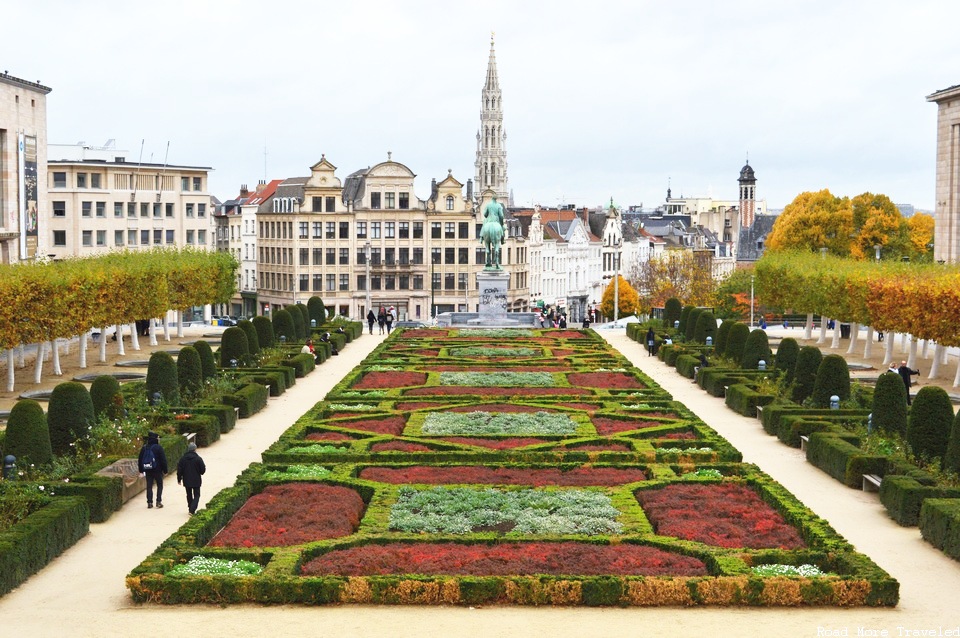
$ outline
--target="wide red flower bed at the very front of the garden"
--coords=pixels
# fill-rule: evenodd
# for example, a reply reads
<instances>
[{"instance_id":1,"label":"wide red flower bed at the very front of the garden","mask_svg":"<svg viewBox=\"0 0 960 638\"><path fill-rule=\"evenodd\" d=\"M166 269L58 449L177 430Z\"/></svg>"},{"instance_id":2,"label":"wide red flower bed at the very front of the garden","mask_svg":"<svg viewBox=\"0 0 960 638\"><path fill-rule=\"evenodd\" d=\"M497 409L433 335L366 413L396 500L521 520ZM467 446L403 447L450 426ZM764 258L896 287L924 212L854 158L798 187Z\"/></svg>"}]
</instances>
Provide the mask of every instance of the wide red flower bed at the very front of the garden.
<instances>
[{"instance_id":1,"label":"wide red flower bed at the very front of the garden","mask_svg":"<svg viewBox=\"0 0 960 638\"><path fill-rule=\"evenodd\" d=\"M589 543L390 543L336 550L314 558L304 576L437 574L525 576L705 576L696 558L642 545Z\"/></svg>"}]
</instances>

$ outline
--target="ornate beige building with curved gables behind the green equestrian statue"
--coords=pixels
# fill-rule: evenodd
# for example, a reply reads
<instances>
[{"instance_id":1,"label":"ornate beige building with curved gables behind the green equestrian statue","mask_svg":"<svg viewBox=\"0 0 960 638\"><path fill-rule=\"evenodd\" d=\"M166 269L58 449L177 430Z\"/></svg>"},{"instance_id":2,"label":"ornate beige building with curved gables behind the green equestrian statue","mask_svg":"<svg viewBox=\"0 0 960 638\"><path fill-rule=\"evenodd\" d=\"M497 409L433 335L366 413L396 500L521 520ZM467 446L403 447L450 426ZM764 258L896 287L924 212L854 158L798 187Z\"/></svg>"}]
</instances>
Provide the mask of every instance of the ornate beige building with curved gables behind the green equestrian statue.
<instances>
[{"instance_id":1,"label":"ornate beige building with curved gables behind the green equestrian statue","mask_svg":"<svg viewBox=\"0 0 960 638\"><path fill-rule=\"evenodd\" d=\"M387 161L344 180L327 158L307 177L284 180L257 212L259 314L316 295L339 315L362 318L393 306L399 320L427 321L448 311L476 311L483 269L479 211L472 183L452 174L414 193L414 173ZM486 197L492 192L486 193ZM509 236L503 266L509 304L528 303L522 238Z\"/></svg>"}]
</instances>

